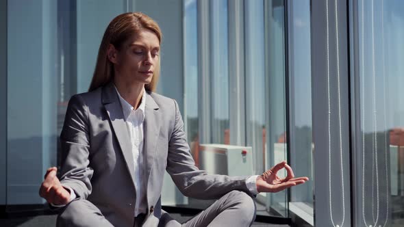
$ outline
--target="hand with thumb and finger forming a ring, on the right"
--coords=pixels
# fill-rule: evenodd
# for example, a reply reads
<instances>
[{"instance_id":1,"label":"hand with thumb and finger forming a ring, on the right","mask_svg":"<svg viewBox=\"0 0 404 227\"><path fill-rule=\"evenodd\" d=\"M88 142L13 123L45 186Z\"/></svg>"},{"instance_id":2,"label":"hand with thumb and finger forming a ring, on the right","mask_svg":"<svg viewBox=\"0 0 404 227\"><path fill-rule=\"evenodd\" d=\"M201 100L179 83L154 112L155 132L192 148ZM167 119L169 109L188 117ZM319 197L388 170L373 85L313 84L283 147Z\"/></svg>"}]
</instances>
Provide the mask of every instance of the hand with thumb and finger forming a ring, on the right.
<instances>
[{"instance_id":1,"label":"hand with thumb and finger forming a ring, on the right","mask_svg":"<svg viewBox=\"0 0 404 227\"><path fill-rule=\"evenodd\" d=\"M283 168L285 168L288 175L285 178L279 178L279 176L277 176L277 172ZM306 176L294 178L292 168L290 168L286 161L282 161L281 163L275 165L273 168L270 168L270 170L264 172L261 176L258 176L257 191L278 192L294 185L303 184L308 180L309 178L307 178Z\"/></svg>"}]
</instances>

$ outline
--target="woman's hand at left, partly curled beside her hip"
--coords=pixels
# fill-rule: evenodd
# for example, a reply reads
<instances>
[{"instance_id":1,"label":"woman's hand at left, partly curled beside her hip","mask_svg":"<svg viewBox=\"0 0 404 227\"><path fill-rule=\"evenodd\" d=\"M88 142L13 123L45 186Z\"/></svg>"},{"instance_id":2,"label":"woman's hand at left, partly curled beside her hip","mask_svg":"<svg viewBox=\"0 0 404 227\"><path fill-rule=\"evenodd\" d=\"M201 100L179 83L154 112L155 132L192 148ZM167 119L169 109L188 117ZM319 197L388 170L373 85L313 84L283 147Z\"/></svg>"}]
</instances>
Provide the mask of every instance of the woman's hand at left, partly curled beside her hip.
<instances>
[{"instance_id":1,"label":"woman's hand at left, partly curled beside her hip","mask_svg":"<svg viewBox=\"0 0 404 227\"><path fill-rule=\"evenodd\" d=\"M51 204L68 204L70 202L70 192L60 184L56 172L58 172L58 168L55 167L47 170L45 180L40 185L39 195Z\"/></svg>"}]
</instances>

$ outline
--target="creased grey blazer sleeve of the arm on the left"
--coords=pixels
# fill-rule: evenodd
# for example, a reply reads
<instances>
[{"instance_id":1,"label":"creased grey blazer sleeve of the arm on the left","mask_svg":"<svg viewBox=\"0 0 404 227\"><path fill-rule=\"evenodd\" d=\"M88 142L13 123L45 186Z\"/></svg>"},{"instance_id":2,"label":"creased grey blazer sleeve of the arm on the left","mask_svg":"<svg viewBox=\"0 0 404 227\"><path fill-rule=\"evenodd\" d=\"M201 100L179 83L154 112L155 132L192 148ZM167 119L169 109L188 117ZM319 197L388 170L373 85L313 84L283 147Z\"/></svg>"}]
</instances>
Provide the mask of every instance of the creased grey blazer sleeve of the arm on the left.
<instances>
[{"instance_id":1,"label":"creased grey blazer sleeve of the arm on the left","mask_svg":"<svg viewBox=\"0 0 404 227\"><path fill-rule=\"evenodd\" d=\"M86 199L91 193L92 168L88 166L90 134L88 107L81 96L72 96L68 102L60 143L62 166L60 182L71 187L77 198Z\"/></svg>"}]
</instances>

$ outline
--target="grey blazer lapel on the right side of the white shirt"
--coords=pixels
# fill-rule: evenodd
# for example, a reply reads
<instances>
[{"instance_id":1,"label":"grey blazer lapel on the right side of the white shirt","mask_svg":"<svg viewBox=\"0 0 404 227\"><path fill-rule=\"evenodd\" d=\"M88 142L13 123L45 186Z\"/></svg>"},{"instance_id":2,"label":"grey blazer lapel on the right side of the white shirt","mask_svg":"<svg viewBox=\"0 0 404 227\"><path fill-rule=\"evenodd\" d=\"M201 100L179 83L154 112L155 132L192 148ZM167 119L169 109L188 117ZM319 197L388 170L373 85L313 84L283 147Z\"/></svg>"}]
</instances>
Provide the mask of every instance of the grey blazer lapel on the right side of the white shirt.
<instances>
[{"instance_id":1,"label":"grey blazer lapel on the right side of the white shirt","mask_svg":"<svg viewBox=\"0 0 404 227\"><path fill-rule=\"evenodd\" d=\"M151 168L157 148L157 140L160 134L160 111L157 103L150 94L146 94L146 107L144 114L144 154L146 161L146 182L149 182ZM148 185L148 184L146 184Z\"/></svg>"}]
</instances>

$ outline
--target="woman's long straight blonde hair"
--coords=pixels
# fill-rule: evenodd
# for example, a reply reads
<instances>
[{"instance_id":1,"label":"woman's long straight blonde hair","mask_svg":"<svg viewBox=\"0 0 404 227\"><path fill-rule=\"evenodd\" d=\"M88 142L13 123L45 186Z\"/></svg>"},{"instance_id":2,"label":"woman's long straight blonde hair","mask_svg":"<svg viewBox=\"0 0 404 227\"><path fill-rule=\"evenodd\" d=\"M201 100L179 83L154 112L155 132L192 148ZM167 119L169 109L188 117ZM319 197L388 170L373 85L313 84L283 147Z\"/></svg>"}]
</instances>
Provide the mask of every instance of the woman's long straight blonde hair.
<instances>
[{"instance_id":1,"label":"woman's long straight blonde hair","mask_svg":"<svg viewBox=\"0 0 404 227\"><path fill-rule=\"evenodd\" d=\"M162 31L152 18L141 12L128 12L116 16L105 29L103 40L99 46L97 64L95 65L94 75L90 84L89 92L110 83L114 77L114 64L107 57L107 50L110 44L118 50L121 49L123 43L131 36L139 34L142 29L153 31L162 42ZM160 77L160 58L157 66L153 71L153 78L149 84L144 85L147 91L154 92L157 81Z\"/></svg>"}]
</instances>

